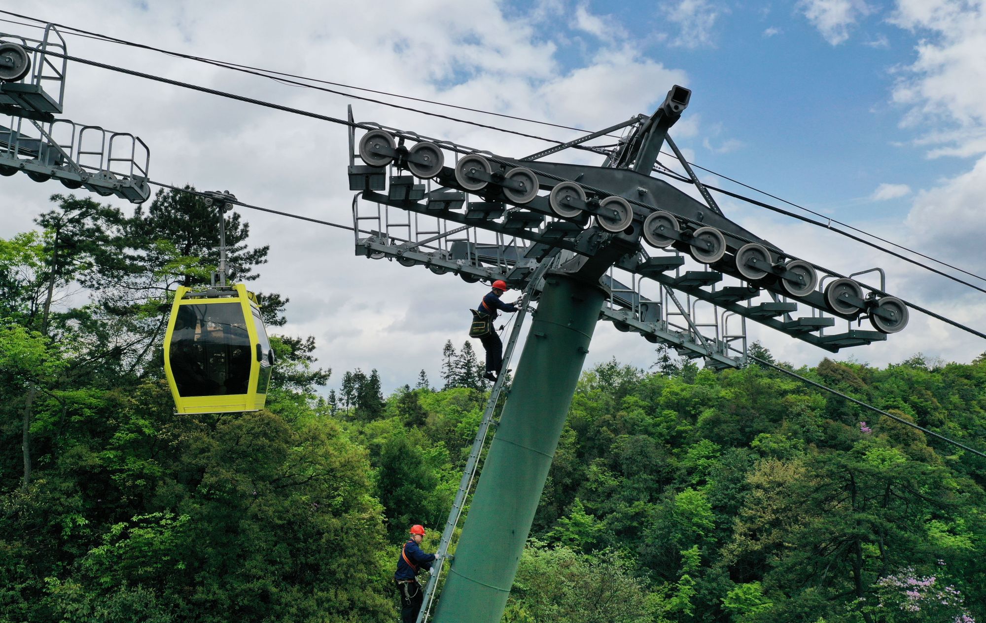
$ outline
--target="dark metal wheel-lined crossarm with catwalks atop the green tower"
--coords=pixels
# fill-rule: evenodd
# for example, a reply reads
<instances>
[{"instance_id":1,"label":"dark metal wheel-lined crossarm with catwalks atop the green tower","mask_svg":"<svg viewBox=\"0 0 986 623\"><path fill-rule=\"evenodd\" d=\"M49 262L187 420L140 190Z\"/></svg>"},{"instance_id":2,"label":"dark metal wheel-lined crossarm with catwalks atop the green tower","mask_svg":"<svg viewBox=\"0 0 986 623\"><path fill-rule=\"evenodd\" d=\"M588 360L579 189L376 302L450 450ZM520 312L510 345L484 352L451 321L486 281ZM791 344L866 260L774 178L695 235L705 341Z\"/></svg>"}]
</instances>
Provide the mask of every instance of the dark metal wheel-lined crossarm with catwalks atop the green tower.
<instances>
[{"instance_id":1,"label":"dark metal wheel-lined crossarm with catwalks atop the green tower","mask_svg":"<svg viewBox=\"0 0 986 623\"><path fill-rule=\"evenodd\" d=\"M400 145L368 147L364 136L357 150L355 130L350 130L348 173L350 189L357 191L354 225L358 230L370 227L374 232L363 238L357 233L357 253L387 256L408 266L424 265L436 273L452 272L469 282L502 278L521 286L537 261L549 249L559 248L567 253L570 263L584 269L597 262L597 272L606 273L600 279L610 291L603 315L617 328L672 345L687 356L704 357L719 367L741 365L744 357L729 357L727 353L733 342L739 342L745 352L746 320L830 352L883 341L887 333L906 323L903 305L892 305L899 300L865 298L863 288L851 279L833 280L824 275L819 280L811 264L792 259L776 245L740 228L723 216L714 202L703 204L667 181L641 174L650 166L649 161L638 163L641 154L654 150L633 137L639 137L648 126L647 118L637 117L612 127L634 124L621 139L622 152L610 154L607 166L590 167L531 162L528 159L532 157L502 158L413 132L361 123L397 138ZM653 131L654 124L651 126ZM666 134L660 138L669 140ZM408 150L404 141L417 143L416 147L425 143L433 150L427 176L413 174L423 169L424 163L415 161L422 152ZM534 156L555 153L570 144ZM626 155L633 149L636 156ZM679 153L676 147L674 151ZM435 152L439 152L441 167L435 166ZM445 153L451 153L454 166L444 166ZM472 176L463 175L463 160L474 155L483 156L480 164L488 163L490 170L478 167L469 172ZM363 164L358 164L358 158ZM380 158L387 164L381 166ZM619 163L625 168L615 168ZM517 179L525 177L513 172L522 169L527 179L536 180L538 190L552 193L528 193L519 199ZM690 168L686 172L693 182L700 183ZM571 184L570 180L575 180L583 193L589 189L590 196L576 197L559 209L553 192L561 184ZM629 208L632 214L632 220L624 222L628 224L625 228L611 227L614 217L606 212L606 204L607 200L611 204L613 197L624 198L623 210ZM398 213L390 208L404 216L395 216ZM648 236L647 228L653 228L649 221L658 212L672 215L679 229ZM607 219L610 227L606 227ZM709 248L718 244L718 252L702 246L708 230L718 232L718 240L711 236L709 244ZM663 243L642 243L655 238ZM751 245L762 255L750 255L747 249ZM751 273L754 278L750 278ZM641 291L640 284L647 282L659 286L650 297ZM841 290L833 291L833 284ZM684 303L677 302L673 291L684 295ZM901 311L902 321L893 315ZM696 315L712 319L697 322ZM867 315L875 328L890 326L890 330L852 326L853 320ZM731 320L732 330L727 326ZM843 320L845 328L837 329ZM706 338L702 331L712 335Z\"/></svg>"}]
</instances>

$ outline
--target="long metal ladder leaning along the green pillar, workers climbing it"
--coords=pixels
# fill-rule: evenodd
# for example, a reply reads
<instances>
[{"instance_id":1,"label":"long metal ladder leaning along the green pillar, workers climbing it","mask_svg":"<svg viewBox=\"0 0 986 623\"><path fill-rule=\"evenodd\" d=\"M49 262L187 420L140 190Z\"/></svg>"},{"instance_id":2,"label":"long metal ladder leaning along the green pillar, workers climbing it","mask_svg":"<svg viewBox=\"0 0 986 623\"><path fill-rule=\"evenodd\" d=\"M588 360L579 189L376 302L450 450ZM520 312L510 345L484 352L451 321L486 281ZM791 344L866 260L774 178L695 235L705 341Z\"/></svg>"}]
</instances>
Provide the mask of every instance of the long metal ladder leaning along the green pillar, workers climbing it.
<instances>
[{"instance_id":1,"label":"long metal ladder leaning along the green pillar, workers climbing it","mask_svg":"<svg viewBox=\"0 0 986 623\"><path fill-rule=\"evenodd\" d=\"M504 351L503 368L501 368L501 370L506 370L507 364L510 363L511 358L514 355L514 347L517 345L517 340L521 336L521 327L523 326L524 320L528 314L528 302L530 301L530 295L537 289L537 282L540 281L541 277L554 263L554 261L553 255L545 257L530 276L528 287L524 289L525 304L515 316L514 327L511 329L510 339L507 341L506 349ZM468 496L469 490L472 488L472 480L476 475L476 468L479 466L479 455L483 451L483 445L486 442L486 434L489 431L490 425L493 423L493 413L496 411L496 404L500 398L500 392L503 389L503 381L506 377L506 374L501 374L497 381L493 383L493 388L490 389L490 397L486 402L486 410L483 412L483 419L480 421L479 430L476 432L476 437L472 441L472 450L469 450L469 457L465 461L465 469L462 471L462 478L458 481L458 491L456 492L456 499L452 503L452 511L450 511L449 519L446 521L445 529L442 531L442 540L439 541L438 551L436 552L440 555L440 557L435 564L432 565L435 573L428 578L428 585L425 587L424 601L422 602L421 610L418 612L417 623L424 623L431 616L431 609L435 604L435 588L437 588L438 579L442 575L442 566L445 564L445 561L448 560L446 556L449 551L449 545L452 542L452 535L456 531L458 519L462 515L462 508L465 506L465 498Z\"/></svg>"}]
</instances>

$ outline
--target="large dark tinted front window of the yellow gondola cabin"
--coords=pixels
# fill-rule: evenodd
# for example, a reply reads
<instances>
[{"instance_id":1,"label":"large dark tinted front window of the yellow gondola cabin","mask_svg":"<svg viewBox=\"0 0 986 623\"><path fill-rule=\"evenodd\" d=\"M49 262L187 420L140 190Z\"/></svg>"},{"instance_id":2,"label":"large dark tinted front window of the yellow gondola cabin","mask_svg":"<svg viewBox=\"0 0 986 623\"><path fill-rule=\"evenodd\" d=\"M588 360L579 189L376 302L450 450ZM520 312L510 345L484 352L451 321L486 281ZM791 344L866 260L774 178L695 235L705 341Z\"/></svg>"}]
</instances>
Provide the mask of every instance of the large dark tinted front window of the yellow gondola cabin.
<instances>
[{"instance_id":1,"label":"large dark tinted front window of the yellow gondola cabin","mask_svg":"<svg viewBox=\"0 0 986 623\"><path fill-rule=\"evenodd\" d=\"M169 356L182 396L246 393L253 351L243 307L239 303L179 306Z\"/></svg>"}]
</instances>

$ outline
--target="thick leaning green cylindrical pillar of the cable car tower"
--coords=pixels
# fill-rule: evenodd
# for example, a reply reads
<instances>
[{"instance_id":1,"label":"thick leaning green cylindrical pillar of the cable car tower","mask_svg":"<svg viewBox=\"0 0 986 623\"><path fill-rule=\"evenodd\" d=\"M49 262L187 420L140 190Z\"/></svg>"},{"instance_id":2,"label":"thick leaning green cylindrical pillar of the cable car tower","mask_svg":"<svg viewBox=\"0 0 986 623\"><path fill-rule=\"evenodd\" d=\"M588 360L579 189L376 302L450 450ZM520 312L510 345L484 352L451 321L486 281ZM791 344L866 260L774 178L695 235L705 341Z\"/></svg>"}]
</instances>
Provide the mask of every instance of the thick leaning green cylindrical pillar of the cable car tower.
<instances>
[{"instance_id":1,"label":"thick leaning green cylindrical pillar of the cable car tower","mask_svg":"<svg viewBox=\"0 0 986 623\"><path fill-rule=\"evenodd\" d=\"M552 273L462 527L435 623L498 623L605 293Z\"/></svg>"}]
</instances>

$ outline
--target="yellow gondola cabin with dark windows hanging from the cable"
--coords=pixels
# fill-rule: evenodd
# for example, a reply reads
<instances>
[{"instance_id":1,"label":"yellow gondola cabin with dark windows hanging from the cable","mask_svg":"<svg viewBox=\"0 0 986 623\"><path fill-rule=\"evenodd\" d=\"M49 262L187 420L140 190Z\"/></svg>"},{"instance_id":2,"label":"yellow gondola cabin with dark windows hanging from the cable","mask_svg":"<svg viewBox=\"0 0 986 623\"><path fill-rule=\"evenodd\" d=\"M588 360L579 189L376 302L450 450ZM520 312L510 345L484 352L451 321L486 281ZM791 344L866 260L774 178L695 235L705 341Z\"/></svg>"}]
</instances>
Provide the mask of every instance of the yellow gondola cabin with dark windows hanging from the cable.
<instances>
[{"instance_id":1,"label":"yellow gondola cabin with dark windows hanging from the cable","mask_svg":"<svg viewBox=\"0 0 986 623\"><path fill-rule=\"evenodd\" d=\"M179 286L165 334L165 376L178 413L262 409L274 353L246 286Z\"/></svg>"}]
</instances>

